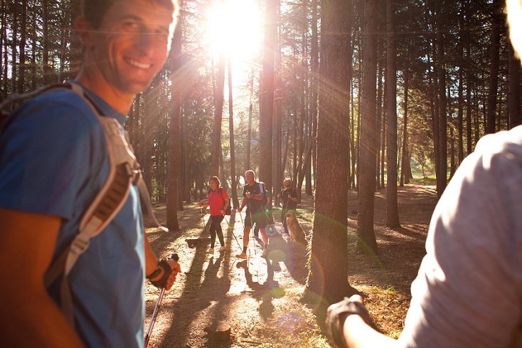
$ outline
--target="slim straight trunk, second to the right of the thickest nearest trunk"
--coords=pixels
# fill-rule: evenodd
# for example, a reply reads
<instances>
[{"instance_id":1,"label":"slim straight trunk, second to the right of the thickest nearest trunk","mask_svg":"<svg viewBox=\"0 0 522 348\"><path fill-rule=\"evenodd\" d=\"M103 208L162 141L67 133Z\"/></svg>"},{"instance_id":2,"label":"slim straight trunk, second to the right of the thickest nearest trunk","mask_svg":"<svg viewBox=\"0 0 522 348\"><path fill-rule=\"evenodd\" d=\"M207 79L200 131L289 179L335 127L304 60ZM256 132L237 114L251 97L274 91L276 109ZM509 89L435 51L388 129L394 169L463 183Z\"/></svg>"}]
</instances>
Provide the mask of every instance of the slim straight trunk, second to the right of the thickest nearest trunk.
<instances>
[{"instance_id":1,"label":"slim straight trunk, second to the right of the thickest nearest trunk","mask_svg":"<svg viewBox=\"0 0 522 348\"><path fill-rule=\"evenodd\" d=\"M386 226L400 227L397 201L397 40L395 3L386 1Z\"/></svg>"}]
</instances>

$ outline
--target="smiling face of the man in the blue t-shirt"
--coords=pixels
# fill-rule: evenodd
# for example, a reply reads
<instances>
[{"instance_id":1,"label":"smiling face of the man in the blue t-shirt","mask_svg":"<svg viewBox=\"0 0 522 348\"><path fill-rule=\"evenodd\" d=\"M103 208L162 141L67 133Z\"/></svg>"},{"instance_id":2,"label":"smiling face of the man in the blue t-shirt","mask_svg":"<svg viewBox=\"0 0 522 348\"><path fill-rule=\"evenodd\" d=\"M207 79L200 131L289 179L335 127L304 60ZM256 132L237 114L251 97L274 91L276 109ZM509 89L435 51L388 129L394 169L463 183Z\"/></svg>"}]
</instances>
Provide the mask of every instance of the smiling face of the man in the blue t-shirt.
<instances>
[{"instance_id":1,"label":"smiling face of the man in the blue t-shirt","mask_svg":"<svg viewBox=\"0 0 522 348\"><path fill-rule=\"evenodd\" d=\"M172 12L154 2L117 0L92 33L90 63L115 93L141 93L166 60L172 22Z\"/></svg>"}]
</instances>

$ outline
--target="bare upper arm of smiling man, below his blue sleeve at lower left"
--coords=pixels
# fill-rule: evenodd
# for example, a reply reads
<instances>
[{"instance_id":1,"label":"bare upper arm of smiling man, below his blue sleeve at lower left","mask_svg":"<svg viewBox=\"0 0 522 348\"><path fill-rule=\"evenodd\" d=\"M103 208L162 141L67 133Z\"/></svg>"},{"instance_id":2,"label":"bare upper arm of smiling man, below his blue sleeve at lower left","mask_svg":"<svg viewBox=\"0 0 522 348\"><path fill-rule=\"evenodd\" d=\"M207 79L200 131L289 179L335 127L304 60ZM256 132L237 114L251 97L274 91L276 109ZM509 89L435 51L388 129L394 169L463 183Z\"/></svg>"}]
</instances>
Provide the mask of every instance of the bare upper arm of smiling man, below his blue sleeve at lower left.
<instances>
[{"instance_id":1,"label":"bare upper arm of smiling man, below his blue sleeve at lower left","mask_svg":"<svg viewBox=\"0 0 522 348\"><path fill-rule=\"evenodd\" d=\"M43 285L61 219L0 208L2 343L6 347L84 347Z\"/></svg>"}]
</instances>

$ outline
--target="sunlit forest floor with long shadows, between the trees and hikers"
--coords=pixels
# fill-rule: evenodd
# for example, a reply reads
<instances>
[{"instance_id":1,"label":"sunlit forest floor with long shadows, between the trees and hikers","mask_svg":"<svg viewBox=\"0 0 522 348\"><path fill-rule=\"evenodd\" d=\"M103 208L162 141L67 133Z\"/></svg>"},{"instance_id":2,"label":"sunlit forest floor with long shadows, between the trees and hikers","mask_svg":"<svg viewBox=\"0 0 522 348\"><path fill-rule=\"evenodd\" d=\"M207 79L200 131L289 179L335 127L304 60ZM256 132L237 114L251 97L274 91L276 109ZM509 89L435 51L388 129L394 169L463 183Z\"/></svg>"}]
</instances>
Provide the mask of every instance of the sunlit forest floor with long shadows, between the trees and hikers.
<instances>
[{"instance_id":1,"label":"sunlit forest floor with long shadows, between the trees and hikers","mask_svg":"<svg viewBox=\"0 0 522 348\"><path fill-rule=\"evenodd\" d=\"M357 192L348 194L348 281L365 297L365 303L381 332L398 337L410 303L410 285L425 255L425 238L437 195L433 181L414 180L398 188L401 227L385 227L385 190L375 194L375 236L380 255L356 251ZM297 209L299 223L310 238L312 196L303 194ZM156 206L165 222L165 206ZM280 210L274 210L276 228ZM243 213L244 216L244 213ZM260 241L250 236L249 260L239 260L243 245L243 220L239 213L222 223L225 253L206 255L210 245L208 213L196 202L178 212L181 231L160 232L147 228L151 246L159 257L176 251L183 272L165 292L151 334L149 347L331 347L324 325L326 307L302 300L307 279L307 251L277 234L270 238L270 253L261 257ZM145 224L152 226L149 219ZM147 282L145 332L159 290ZM212 329L230 325L230 341L219 342ZM210 328L210 330L209 330Z\"/></svg>"}]
</instances>

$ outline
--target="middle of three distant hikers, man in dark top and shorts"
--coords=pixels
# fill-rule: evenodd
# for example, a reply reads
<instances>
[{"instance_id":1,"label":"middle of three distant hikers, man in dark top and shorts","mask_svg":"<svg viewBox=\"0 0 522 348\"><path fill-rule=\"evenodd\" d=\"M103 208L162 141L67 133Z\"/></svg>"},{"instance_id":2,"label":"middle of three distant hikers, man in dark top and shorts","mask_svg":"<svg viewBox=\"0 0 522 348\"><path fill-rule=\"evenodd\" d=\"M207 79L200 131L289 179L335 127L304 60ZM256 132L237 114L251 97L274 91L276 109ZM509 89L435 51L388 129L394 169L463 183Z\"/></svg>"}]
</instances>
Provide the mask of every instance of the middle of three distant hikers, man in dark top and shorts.
<instances>
[{"instance_id":1,"label":"middle of three distant hikers, man in dark top and shorts","mask_svg":"<svg viewBox=\"0 0 522 348\"><path fill-rule=\"evenodd\" d=\"M237 255L238 258L247 258L248 238L250 235L250 229L256 224L261 232L261 238L263 241L263 253L262 256L266 257L268 254L268 236L265 233L265 227L267 226L267 218L265 211L262 209L262 200L265 197L265 190L263 186L255 181L255 173L252 170L245 172L245 179L247 184L243 188L243 201L238 211L241 213L243 208L247 206L245 216L245 228L243 229L243 253Z\"/></svg>"}]
</instances>

